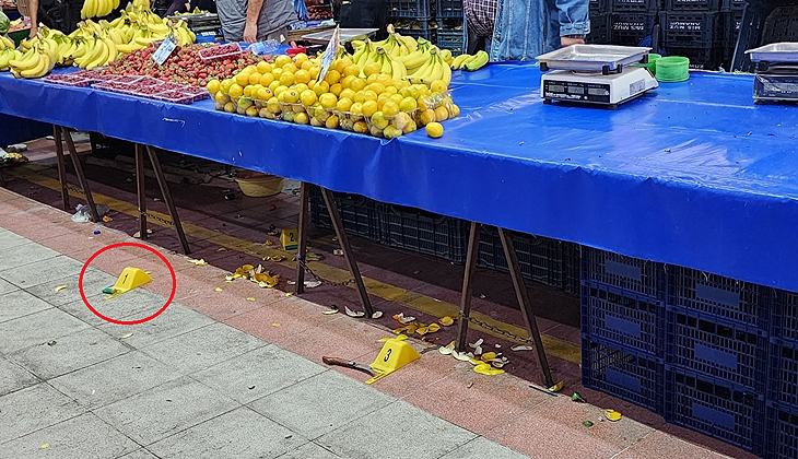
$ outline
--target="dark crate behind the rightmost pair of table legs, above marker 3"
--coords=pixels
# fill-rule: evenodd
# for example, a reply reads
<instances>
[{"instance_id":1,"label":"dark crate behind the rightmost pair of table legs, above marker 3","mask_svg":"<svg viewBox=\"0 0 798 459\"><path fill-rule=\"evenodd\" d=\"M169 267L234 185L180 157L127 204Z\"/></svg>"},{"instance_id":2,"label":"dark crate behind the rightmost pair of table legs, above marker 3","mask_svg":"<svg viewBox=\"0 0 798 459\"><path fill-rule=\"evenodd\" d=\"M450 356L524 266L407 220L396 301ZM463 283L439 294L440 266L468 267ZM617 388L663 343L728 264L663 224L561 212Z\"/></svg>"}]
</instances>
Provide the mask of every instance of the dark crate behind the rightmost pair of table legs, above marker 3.
<instances>
[{"instance_id":1,"label":"dark crate behind the rightmost pair of table legs, above marker 3","mask_svg":"<svg viewBox=\"0 0 798 459\"><path fill-rule=\"evenodd\" d=\"M513 247L518 257L521 275L556 289L563 289L563 244L548 237L511 233ZM498 232L483 226L480 231L480 247L477 266L508 272L507 258Z\"/></svg>"}]
</instances>

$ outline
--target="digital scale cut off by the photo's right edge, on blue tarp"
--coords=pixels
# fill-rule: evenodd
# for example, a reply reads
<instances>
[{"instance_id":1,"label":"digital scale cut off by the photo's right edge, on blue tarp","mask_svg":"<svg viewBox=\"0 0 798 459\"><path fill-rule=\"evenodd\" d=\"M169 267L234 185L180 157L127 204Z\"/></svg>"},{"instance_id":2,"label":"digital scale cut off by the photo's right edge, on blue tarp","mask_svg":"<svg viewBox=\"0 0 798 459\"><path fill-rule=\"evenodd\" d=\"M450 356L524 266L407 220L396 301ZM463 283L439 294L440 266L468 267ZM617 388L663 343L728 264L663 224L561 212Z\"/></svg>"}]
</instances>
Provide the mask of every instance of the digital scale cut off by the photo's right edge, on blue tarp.
<instances>
[{"instance_id":1,"label":"digital scale cut off by the photo's right edge, on blue tarp","mask_svg":"<svg viewBox=\"0 0 798 459\"><path fill-rule=\"evenodd\" d=\"M755 104L798 102L798 43L773 43L746 52L755 63Z\"/></svg>"}]
</instances>

